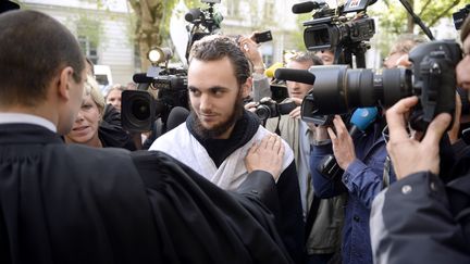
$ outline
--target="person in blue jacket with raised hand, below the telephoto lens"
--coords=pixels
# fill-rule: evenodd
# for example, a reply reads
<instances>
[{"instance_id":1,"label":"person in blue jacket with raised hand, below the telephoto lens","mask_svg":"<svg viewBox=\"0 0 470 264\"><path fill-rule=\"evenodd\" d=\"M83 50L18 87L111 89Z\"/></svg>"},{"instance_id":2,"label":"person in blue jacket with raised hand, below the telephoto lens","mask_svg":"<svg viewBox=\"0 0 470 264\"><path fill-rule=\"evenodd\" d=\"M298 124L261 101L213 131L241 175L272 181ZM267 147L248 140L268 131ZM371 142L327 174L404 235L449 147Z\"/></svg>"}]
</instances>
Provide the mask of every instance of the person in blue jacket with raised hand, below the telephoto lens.
<instances>
[{"instance_id":1,"label":"person in blue jacket with raised hand, below the telephoto lens","mask_svg":"<svg viewBox=\"0 0 470 264\"><path fill-rule=\"evenodd\" d=\"M342 117L333 120L334 130L319 127L310 155L316 194L331 198L347 193L343 226L343 263L372 263L369 235L369 213L374 197L383 188L383 172L386 159L382 130L385 126L379 117L363 134L351 138ZM327 141L329 136L331 142ZM323 176L317 167L323 159L334 153L342 175L334 178Z\"/></svg>"}]
</instances>

